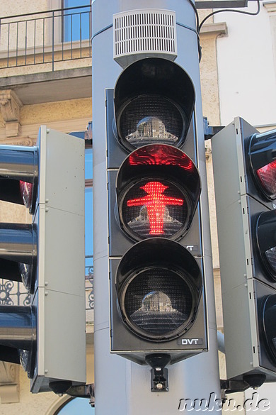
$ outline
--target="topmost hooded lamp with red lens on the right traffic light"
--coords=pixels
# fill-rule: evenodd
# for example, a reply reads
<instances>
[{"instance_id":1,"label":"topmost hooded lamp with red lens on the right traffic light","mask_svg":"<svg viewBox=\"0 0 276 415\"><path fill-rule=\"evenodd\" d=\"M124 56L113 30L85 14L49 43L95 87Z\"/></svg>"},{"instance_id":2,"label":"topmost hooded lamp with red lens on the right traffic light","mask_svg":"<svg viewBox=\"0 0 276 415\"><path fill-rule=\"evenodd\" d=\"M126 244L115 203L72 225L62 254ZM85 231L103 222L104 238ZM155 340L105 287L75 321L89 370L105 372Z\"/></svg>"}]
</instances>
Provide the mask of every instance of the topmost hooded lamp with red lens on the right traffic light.
<instances>
[{"instance_id":1,"label":"topmost hooded lamp with red lens on the right traffic light","mask_svg":"<svg viewBox=\"0 0 276 415\"><path fill-rule=\"evenodd\" d=\"M248 155L258 189L266 199L276 199L276 130L253 134Z\"/></svg>"}]
</instances>

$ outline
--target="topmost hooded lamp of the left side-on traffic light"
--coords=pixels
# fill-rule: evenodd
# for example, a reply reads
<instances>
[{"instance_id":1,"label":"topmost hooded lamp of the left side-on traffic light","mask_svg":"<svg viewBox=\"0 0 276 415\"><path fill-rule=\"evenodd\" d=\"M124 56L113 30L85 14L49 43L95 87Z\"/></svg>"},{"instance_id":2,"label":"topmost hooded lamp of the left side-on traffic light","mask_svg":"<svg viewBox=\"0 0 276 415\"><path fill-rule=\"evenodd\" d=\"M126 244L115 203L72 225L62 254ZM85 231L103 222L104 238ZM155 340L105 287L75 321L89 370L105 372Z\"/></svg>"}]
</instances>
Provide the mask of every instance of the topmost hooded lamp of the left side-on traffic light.
<instances>
[{"instance_id":1,"label":"topmost hooded lamp of the left side-on traffic light","mask_svg":"<svg viewBox=\"0 0 276 415\"><path fill-rule=\"evenodd\" d=\"M34 214L37 195L38 148L1 145L0 200L25 204Z\"/></svg>"}]
</instances>

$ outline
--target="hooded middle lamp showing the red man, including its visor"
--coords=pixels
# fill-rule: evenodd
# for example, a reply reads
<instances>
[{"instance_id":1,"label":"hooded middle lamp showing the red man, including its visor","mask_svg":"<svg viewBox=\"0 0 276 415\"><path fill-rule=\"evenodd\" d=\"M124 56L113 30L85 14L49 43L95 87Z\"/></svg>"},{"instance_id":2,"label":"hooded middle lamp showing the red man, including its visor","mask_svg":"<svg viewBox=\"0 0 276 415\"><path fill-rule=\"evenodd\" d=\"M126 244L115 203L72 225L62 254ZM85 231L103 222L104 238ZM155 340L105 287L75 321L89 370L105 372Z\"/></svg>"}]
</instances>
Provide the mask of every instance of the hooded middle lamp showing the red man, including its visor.
<instances>
[{"instance_id":1,"label":"hooded middle lamp showing the red man, including its visor","mask_svg":"<svg viewBox=\"0 0 276 415\"><path fill-rule=\"evenodd\" d=\"M188 232L200 197L200 175L190 157L172 145L134 150L117 175L117 215L134 240Z\"/></svg>"}]
</instances>

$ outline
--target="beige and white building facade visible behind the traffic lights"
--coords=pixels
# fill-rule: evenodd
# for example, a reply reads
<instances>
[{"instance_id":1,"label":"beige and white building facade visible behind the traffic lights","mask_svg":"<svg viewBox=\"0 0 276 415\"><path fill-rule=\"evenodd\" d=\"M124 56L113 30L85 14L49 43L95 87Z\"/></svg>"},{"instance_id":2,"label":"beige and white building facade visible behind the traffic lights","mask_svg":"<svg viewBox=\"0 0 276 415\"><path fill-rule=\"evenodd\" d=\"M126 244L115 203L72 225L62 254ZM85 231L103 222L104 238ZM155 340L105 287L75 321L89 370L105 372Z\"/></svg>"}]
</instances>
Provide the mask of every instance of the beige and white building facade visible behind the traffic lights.
<instances>
[{"instance_id":1,"label":"beige and white building facade visible behind the traffic lights","mask_svg":"<svg viewBox=\"0 0 276 415\"><path fill-rule=\"evenodd\" d=\"M261 2L258 16L218 13L202 26L202 106L211 126L226 125L234 116L243 116L260 131L275 128L275 5ZM252 1L249 9L254 8ZM200 10L200 19L210 12ZM64 133L86 131L92 119L90 1L2 0L0 13L0 144L35 145L42 124ZM88 220L92 216L93 178L88 133L86 138L86 382L93 383L93 243L92 219ZM223 331L209 141L205 148L217 326ZM30 215L25 208L0 202L0 221L25 223ZM18 286L8 292L5 284L0 274L0 304L6 304L7 296L13 304L20 304L26 293L18 291ZM224 378L222 355L220 362ZM57 414L68 399L53 393L30 394L22 368L0 362L1 414ZM243 394L238 399L243 400Z\"/></svg>"}]
</instances>

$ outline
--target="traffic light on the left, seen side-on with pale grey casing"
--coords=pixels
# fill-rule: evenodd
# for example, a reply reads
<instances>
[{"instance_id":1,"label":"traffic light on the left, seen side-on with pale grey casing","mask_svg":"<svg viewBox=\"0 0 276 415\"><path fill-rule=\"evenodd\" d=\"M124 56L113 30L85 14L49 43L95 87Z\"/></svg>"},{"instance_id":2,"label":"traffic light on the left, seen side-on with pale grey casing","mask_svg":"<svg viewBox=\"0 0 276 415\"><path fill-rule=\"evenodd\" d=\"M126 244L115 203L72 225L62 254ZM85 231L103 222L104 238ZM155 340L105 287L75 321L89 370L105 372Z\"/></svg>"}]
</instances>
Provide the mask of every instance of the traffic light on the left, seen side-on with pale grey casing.
<instances>
[{"instance_id":1,"label":"traffic light on the left, seen side-on with pale grey casing","mask_svg":"<svg viewBox=\"0 0 276 415\"><path fill-rule=\"evenodd\" d=\"M37 145L0 146L0 199L31 223L0 223L0 270L29 305L0 306L0 360L21 363L33 393L86 382L84 140L40 128Z\"/></svg>"}]
</instances>

